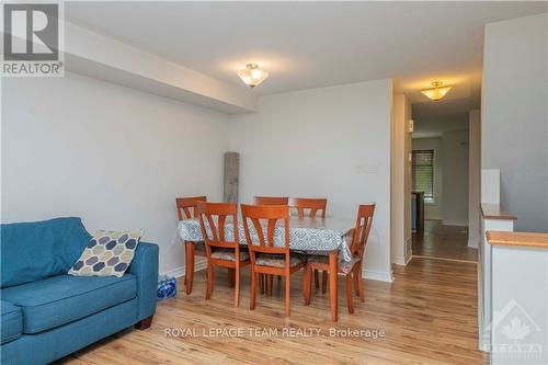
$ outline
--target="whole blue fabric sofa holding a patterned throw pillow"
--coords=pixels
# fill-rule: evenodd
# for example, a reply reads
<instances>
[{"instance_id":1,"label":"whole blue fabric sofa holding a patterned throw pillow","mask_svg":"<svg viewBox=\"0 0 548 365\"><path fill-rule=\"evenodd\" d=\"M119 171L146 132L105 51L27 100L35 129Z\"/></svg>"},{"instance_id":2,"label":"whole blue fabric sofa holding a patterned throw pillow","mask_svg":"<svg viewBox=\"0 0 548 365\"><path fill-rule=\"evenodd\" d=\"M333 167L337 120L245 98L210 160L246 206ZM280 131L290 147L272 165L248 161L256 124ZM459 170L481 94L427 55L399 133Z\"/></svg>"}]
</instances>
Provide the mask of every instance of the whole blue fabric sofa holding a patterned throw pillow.
<instances>
[{"instance_id":1,"label":"whole blue fabric sofa holding a patterned throw pillow","mask_svg":"<svg viewBox=\"0 0 548 365\"><path fill-rule=\"evenodd\" d=\"M80 218L1 225L1 364L46 364L150 326L158 246L140 242L123 277L67 275L90 239Z\"/></svg>"}]
</instances>

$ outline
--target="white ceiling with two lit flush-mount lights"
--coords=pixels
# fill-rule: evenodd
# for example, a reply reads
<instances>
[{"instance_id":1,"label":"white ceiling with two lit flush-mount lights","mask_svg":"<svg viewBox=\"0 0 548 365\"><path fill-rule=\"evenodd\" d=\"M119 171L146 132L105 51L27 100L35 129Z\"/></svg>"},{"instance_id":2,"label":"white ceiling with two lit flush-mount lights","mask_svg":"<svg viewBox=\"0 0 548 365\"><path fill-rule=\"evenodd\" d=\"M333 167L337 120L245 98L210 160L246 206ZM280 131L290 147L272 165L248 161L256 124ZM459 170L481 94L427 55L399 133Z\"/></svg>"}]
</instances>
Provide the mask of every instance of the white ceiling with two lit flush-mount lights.
<instances>
[{"instance_id":1,"label":"white ceiling with two lit flush-mount lights","mask_svg":"<svg viewBox=\"0 0 548 365\"><path fill-rule=\"evenodd\" d=\"M420 89L439 79L454 85L447 101L467 100L459 107L479 105L484 24L540 12L548 12L548 2L67 2L65 8L73 23L242 88L236 69L258 62L271 73L254 90L259 95L393 78L395 90L419 106L426 101ZM437 103L423 114L448 111Z\"/></svg>"}]
</instances>

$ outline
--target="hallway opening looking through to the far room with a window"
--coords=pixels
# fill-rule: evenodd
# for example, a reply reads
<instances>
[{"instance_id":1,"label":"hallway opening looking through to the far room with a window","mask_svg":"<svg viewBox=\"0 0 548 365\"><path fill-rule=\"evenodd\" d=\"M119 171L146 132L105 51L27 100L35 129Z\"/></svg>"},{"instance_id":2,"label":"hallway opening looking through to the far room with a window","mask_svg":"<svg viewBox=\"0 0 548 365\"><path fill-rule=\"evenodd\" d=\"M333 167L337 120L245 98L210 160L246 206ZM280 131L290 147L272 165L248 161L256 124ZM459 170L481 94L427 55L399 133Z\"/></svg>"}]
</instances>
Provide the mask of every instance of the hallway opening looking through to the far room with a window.
<instances>
[{"instance_id":1,"label":"hallway opening looking through to the far room with a window","mask_svg":"<svg viewBox=\"0 0 548 365\"><path fill-rule=\"evenodd\" d=\"M469 246L468 235L468 117L439 122L436 128L420 118L414 124L413 256L477 262L477 249Z\"/></svg>"}]
</instances>

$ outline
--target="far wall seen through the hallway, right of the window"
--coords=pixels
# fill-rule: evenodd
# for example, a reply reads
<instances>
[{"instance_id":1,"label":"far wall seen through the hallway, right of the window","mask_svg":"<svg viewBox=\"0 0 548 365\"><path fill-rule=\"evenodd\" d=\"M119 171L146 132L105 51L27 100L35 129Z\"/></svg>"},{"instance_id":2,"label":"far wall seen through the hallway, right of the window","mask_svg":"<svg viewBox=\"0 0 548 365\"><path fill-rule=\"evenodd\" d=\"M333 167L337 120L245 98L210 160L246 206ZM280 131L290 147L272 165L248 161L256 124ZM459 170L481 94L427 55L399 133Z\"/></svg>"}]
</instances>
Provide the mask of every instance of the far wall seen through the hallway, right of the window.
<instances>
[{"instance_id":1,"label":"far wall seen through the hallway, right of the window","mask_svg":"<svg viewBox=\"0 0 548 365\"><path fill-rule=\"evenodd\" d=\"M442 134L444 225L468 226L468 130Z\"/></svg>"}]
</instances>

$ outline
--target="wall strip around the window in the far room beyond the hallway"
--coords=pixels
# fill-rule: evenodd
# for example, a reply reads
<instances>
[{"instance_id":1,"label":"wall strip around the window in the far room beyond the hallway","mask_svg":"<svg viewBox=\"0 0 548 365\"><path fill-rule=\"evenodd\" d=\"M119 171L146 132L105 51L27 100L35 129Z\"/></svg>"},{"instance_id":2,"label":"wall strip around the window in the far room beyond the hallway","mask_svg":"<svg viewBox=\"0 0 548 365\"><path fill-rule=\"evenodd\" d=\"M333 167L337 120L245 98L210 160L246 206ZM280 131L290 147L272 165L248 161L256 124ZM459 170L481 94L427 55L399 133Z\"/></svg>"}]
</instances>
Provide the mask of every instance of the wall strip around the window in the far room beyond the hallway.
<instances>
[{"instance_id":1,"label":"wall strip around the window in the far room beyond the hallway","mask_svg":"<svg viewBox=\"0 0 548 365\"><path fill-rule=\"evenodd\" d=\"M424 218L425 219L438 219L443 218L443 149L442 149L442 138L413 138L412 140L413 150L420 149L433 149L434 150L434 198L435 203L424 205Z\"/></svg>"}]
</instances>

